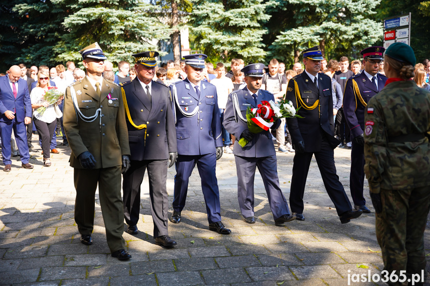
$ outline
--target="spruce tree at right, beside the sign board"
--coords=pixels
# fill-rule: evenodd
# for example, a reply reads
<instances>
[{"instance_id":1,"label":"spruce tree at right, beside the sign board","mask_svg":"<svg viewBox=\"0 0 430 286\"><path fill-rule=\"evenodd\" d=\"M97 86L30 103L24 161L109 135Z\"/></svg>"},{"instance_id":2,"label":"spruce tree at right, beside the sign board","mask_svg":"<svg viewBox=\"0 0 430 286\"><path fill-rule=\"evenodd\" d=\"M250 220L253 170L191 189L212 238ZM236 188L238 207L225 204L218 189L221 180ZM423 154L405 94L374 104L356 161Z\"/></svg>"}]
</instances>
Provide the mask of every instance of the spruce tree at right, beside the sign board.
<instances>
[{"instance_id":1,"label":"spruce tree at right, beside the sign board","mask_svg":"<svg viewBox=\"0 0 430 286\"><path fill-rule=\"evenodd\" d=\"M319 45L328 59L359 51L382 39L382 22L371 19L381 0L276 0L277 9L291 15L285 30L270 46L271 54L289 63L298 51Z\"/></svg>"}]
</instances>

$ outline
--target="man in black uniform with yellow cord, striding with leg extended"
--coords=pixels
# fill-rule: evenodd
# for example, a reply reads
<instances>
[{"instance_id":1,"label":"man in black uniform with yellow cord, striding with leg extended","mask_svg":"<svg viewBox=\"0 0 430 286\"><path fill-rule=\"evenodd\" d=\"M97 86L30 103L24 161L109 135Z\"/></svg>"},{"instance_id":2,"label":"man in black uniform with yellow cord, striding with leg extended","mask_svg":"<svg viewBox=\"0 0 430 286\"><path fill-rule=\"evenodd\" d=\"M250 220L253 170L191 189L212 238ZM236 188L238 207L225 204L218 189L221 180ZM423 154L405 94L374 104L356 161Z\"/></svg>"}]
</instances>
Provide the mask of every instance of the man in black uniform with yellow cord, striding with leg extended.
<instances>
[{"instance_id":1,"label":"man in black uniform with yellow cord, striding with leg extended","mask_svg":"<svg viewBox=\"0 0 430 286\"><path fill-rule=\"evenodd\" d=\"M339 140L334 137L331 79L318 73L322 59L319 46L304 50L305 70L288 83L287 99L295 108L300 107L297 114L304 117L287 118L295 149L289 205L297 220L304 220L304 186L312 155L315 155L325 189L336 207L340 221L347 223L359 217L362 211L352 211L351 203L336 175L333 149L339 145Z\"/></svg>"}]
</instances>

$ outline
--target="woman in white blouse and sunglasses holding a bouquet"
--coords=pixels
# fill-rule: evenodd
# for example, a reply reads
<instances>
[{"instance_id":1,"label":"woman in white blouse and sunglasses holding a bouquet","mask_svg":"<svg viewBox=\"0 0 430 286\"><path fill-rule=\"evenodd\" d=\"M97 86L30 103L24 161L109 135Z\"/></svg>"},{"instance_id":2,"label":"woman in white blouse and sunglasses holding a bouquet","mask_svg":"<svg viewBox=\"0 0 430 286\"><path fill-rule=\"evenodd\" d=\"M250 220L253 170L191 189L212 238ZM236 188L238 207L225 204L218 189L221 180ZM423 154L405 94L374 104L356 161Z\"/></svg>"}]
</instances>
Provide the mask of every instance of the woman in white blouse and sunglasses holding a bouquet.
<instances>
[{"instance_id":1,"label":"woman in white blouse and sunglasses holding a bouquet","mask_svg":"<svg viewBox=\"0 0 430 286\"><path fill-rule=\"evenodd\" d=\"M62 116L57 105L62 97L61 93L57 92L56 88L51 87L49 84L49 74L39 72L37 74L37 85L31 91L30 99L31 107L34 110L34 124L42 140L43 164L47 167L51 166L49 146L55 131L55 123L57 118Z\"/></svg>"}]
</instances>

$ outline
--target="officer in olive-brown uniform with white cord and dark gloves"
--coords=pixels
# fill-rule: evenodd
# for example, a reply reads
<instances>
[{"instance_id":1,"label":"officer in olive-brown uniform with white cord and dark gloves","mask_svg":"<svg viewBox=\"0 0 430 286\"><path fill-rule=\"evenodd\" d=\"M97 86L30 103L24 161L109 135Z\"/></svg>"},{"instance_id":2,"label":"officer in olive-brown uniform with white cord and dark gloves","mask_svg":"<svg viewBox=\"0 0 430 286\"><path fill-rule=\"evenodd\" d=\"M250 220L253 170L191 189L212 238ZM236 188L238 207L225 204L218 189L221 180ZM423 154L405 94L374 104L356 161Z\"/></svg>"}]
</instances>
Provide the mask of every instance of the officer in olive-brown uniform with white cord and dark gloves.
<instances>
[{"instance_id":1,"label":"officer in olive-brown uniform with white cord and dark gloves","mask_svg":"<svg viewBox=\"0 0 430 286\"><path fill-rule=\"evenodd\" d=\"M65 94L63 124L72 149L76 189L75 221L81 242L91 245L97 185L112 256L131 258L123 238L124 214L121 169L130 167L130 148L120 88L103 79L107 58L97 43L79 51L87 76L70 85Z\"/></svg>"}]
</instances>

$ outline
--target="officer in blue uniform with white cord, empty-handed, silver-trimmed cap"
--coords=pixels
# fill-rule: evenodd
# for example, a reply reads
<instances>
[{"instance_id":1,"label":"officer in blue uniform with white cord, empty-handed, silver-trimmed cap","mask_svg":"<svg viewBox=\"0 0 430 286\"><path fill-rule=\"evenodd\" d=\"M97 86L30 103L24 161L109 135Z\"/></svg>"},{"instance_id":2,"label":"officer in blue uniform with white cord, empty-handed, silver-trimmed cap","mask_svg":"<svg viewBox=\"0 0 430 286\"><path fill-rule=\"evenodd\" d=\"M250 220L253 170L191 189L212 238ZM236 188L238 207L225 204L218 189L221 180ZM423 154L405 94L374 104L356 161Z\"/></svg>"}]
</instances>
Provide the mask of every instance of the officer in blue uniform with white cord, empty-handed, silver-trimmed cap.
<instances>
[{"instance_id":1,"label":"officer in blue uniform with white cord, empty-handed, silver-trimmed cap","mask_svg":"<svg viewBox=\"0 0 430 286\"><path fill-rule=\"evenodd\" d=\"M170 86L176 123L178 159L170 221L179 223L185 206L188 180L197 164L206 202L209 229L230 234L221 222L221 206L215 168L222 156L221 121L215 86L202 81L203 54L184 56L187 78Z\"/></svg>"}]
</instances>

